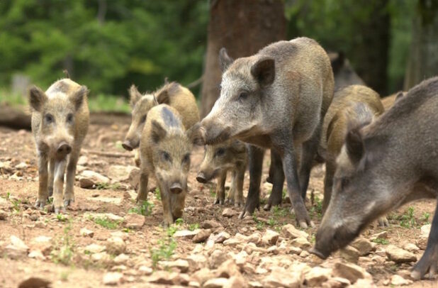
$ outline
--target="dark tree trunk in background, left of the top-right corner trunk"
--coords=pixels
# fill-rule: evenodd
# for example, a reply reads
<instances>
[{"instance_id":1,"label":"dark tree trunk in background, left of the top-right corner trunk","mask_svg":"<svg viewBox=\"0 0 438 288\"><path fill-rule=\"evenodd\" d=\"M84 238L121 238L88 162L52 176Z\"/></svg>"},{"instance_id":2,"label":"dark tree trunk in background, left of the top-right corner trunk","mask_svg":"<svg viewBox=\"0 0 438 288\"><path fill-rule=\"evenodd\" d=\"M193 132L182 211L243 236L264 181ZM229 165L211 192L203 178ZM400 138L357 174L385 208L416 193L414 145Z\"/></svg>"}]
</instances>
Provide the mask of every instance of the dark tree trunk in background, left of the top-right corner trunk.
<instances>
[{"instance_id":1,"label":"dark tree trunk in background, left of the top-right corner trunk","mask_svg":"<svg viewBox=\"0 0 438 288\"><path fill-rule=\"evenodd\" d=\"M358 1L356 5L369 7L369 18L356 23L360 44L354 48L352 58L357 74L381 95L387 94L388 47L390 41L390 17L388 0ZM370 7L371 6L371 7Z\"/></svg>"}]
</instances>

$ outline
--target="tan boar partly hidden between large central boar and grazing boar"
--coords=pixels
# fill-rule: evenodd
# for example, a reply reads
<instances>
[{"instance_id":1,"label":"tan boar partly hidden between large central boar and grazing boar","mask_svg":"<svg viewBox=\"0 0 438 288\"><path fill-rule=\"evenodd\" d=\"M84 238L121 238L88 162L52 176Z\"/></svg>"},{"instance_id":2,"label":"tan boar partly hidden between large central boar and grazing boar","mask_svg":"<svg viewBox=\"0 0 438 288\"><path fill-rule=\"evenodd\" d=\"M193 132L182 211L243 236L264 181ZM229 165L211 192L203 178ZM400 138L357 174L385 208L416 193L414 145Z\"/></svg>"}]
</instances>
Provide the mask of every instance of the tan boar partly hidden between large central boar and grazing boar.
<instances>
[{"instance_id":1,"label":"tan boar partly hidden between large central boar and grazing boar","mask_svg":"<svg viewBox=\"0 0 438 288\"><path fill-rule=\"evenodd\" d=\"M344 145L349 123L364 123L383 113L380 97L373 89L351 85L335 92L332 104L322 124L321 155L325 155L324 201L322 211L327 209L332 194L336 158Z\"/></svg>"}]
</instances>

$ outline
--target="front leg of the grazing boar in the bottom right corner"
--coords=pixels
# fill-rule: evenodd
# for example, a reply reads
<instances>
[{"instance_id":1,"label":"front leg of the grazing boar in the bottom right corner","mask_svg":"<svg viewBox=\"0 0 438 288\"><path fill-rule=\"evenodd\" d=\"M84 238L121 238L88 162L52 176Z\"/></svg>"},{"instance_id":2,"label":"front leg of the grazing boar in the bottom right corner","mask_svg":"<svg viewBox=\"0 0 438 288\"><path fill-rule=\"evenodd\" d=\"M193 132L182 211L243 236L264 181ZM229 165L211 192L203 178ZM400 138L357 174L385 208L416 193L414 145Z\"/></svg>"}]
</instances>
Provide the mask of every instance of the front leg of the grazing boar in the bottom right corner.
<instances>
[{"instance_id":1,"label":"front leg of the grazing boar in the bottom right corner","mask_svg":"<svg viewBox=\"0 0 438 288\"><path fill-rule=\"evenodd\" d=\"M427 240L427 247L425 253L422 255L420 261L412 270L411 277L414 279L422 278L427 271L429 271L432 279L434 273L438 270L438 199L437 207L435 208L434 218L432 220L432 227L430 228L429 239Z\"/></svg>"}]
</instances>

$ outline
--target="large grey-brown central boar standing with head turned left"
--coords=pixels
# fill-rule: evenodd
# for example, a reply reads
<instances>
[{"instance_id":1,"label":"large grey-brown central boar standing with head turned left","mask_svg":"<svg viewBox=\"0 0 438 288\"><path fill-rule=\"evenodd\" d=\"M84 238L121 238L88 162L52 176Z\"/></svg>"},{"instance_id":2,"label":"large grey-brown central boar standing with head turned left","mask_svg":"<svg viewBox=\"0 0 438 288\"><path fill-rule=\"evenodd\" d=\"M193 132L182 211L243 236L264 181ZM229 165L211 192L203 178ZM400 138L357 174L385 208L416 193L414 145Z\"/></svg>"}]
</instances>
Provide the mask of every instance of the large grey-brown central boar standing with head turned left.
<instances>
[{"instance_id":1,"label":"large grey-brown central boar standing with head turned left","mask_svg":"<svg viewBox=\"0 0 438 288\"><path fill-rule=\"evenodd\" d=\"M273 43L256 55L235 61L223 48L220 63L224 71L220 97L201 121L201 134L206 144L229 138L251 144L251 179L240 216L259 207L263 149L271 148L280 157L298 223L302 227L313 225L303 199L322 119L333 97L327 53L315 40L296 38ZM297 155L301 155L299 167Z\"/></svg>"}]
</instances>

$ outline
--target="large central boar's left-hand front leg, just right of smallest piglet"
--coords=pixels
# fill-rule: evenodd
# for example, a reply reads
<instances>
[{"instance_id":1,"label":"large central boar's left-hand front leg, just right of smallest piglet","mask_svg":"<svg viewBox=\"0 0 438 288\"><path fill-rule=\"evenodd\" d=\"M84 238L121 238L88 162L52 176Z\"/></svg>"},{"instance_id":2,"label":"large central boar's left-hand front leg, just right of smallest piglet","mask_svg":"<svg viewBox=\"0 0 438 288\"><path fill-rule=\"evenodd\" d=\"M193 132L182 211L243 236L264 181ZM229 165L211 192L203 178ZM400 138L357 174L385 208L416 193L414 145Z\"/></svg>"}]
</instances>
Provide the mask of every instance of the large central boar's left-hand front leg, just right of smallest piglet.
<instances>
[{"instance_id":1,"label":"large central boar's left-hand front leg, just right of smallest piglet","mask_svg":"<svg viewBox=\"0 0 438 288\"><path fill-rule=\"evenodd\" d=\"M245 218L254 213L254 210L259 209L260 201L260 181L262 180L264 150L253 145L248 147L249 160L249 190L245 209L239 215L239 218Z\"/></svg>"}]
</instances>

